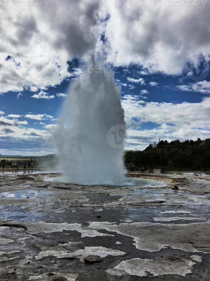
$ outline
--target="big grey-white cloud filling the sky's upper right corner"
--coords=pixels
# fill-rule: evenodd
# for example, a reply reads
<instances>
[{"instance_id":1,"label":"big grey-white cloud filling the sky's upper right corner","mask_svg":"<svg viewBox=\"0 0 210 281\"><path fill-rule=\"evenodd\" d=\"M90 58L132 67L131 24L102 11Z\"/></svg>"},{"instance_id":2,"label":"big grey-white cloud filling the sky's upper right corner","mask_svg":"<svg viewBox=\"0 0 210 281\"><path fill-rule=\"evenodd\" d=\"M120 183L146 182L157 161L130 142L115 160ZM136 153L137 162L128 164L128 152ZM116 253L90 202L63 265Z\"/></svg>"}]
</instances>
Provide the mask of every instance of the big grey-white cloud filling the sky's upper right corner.
<instances>
[{"instance_id":1,"label":"big grey-white cloud filling the sky's upper right corner","mask_svg":"<svg viewBox=\"0 0 210 281\"><path fill-rule=\"evenodd\" d=\"M153 3L149 5L149 2ZM190 58L201 53L208 57L209 1L176 1L173 5L172 1L163 0L159 3L161 5L155 1L124 1L118 9L121 11L128 5L124 12L110 10L105 34L111 63L118 66L135 63L150 73L177 75Z\"/></svg>"}]
</instances>

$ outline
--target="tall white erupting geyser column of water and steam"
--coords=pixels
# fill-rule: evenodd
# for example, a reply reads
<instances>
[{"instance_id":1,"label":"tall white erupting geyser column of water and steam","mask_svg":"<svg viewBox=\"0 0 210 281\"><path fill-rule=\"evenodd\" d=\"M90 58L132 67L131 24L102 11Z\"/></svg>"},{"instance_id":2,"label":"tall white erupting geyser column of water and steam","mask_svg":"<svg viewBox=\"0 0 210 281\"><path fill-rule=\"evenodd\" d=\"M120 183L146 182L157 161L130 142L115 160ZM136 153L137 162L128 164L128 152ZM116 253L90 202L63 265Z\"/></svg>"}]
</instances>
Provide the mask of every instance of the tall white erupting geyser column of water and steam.
<instances>
[{"instance_id":1,"label":"tall white erupting geyser column of water and steam","mask_svg":"<svg viewBox=\"0 0 210 281\"><path fill-rule=\"evenodd\" d=\"M124 111L113 72L93 71L71 84L56 132L65 181L122 185Z\"/></svg>"}]
</instances>

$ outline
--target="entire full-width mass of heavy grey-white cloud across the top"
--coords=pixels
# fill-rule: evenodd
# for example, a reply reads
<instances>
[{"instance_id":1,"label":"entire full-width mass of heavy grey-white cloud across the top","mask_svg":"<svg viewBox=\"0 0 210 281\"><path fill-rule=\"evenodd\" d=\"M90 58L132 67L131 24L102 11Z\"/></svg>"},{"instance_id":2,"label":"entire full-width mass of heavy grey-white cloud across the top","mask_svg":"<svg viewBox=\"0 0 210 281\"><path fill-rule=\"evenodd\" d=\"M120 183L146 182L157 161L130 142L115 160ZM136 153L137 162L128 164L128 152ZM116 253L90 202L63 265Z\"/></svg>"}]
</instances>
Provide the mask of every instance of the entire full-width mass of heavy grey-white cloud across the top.
<instances>
[{"instance_id":1,"label":"entire full-width mass of heavy grey-white cloud across the top","mask_svg":"<svg viewBox=\"0 0 210 281\"><path fill-rule=\"evenodd\" d=\"M67 61L94 51L105 50L113 65L142 65L142 75L178 75L190 58L209 56L210 3L204 1L128 0L117 8L112 0L51 0L47 9L31 2L1 5L0 93L55 87L74 76Z\"/></svg>"}]
</instances>

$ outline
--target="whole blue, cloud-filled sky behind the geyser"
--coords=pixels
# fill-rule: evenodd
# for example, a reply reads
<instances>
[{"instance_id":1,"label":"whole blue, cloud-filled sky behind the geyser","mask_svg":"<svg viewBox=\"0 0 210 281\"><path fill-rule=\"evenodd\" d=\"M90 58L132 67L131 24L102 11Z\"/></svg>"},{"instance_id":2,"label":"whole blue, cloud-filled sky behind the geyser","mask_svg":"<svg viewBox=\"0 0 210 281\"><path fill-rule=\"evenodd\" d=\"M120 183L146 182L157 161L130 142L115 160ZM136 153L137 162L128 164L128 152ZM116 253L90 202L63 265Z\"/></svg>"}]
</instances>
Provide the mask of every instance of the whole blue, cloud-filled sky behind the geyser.
<instances>
[{"instance_id":1,"label":"whole blue, cloud-filled sky behind the geyser","mask_svg":"<svg viewBox=\"0 0 210 281\"><path fill-rule=\"evenodd\" d=\"M114 73L125 149L210 138L206 0L5 0L0 3L0 153L54 153L51 131L74 79Z\"/></svg>"}]
</instances>

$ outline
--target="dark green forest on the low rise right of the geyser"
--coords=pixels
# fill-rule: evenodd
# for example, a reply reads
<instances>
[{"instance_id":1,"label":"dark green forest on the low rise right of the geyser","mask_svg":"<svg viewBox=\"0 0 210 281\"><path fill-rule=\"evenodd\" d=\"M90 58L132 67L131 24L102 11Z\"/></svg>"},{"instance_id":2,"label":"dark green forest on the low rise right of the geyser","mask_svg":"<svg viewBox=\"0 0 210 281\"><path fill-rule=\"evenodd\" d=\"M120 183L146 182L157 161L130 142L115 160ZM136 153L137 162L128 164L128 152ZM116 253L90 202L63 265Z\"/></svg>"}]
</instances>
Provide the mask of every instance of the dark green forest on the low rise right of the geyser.
<instances>
[{"instance_id":1,"label":"dark green forest on the low rise right of the geyser","mask_svg":"<svg viewBox=\"0 0 210 281\"><path fill-rule=\"evenodd\" d=\"M210 169L210 138L197 141L160 140L145 150L125 151L124 163L133 163L135 170L208 171Z\"/></svg>"}]
</instances>

